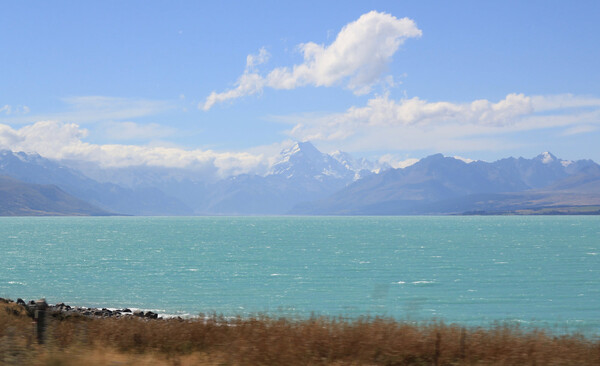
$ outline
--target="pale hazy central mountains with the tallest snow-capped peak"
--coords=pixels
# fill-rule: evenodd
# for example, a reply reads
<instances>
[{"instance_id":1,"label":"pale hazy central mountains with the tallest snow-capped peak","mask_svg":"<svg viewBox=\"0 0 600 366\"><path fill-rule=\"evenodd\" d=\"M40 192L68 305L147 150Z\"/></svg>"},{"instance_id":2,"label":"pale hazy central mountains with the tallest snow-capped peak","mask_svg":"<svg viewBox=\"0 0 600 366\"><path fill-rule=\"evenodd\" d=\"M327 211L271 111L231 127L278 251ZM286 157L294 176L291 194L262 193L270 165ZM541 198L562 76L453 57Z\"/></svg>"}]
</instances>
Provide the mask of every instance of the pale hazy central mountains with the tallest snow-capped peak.
<instances>
[{"instance_id":1,"label":"pale hazy central mountains with the tallest snow-capped peak","mask_svg":"<svg viewBox=\"0 0 600 366\"><path fill-rule=\"evenodd\" d=\"M214 171L148 166L103 169L77 161L68 165L100 182L157 189L185 202L192 214L284 214L299 202L323 198L373 174L365 170L372 163L352 160L349 164L352 158L341 154L345 163L321 153L310 142L298 142L281 151L266 175L241 174L222 180L214 179Z\"/></svg>"}]
</instances>

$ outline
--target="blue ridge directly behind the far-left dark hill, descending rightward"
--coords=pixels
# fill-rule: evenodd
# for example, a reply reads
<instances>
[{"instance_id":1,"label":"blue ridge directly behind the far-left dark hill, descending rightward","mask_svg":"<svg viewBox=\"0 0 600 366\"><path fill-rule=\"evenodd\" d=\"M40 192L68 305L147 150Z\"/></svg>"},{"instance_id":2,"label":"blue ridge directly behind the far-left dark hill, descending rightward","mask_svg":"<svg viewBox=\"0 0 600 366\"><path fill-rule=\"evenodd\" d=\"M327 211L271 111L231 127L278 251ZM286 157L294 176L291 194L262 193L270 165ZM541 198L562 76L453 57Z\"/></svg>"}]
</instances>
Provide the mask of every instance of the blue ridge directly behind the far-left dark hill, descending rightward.
<instances>
[{"instance_id":1,"label":"blue ridge directly behind the far-left dark hill, descending rightward","mask_svg":"<svg viewBox=\"0 0 600 366\"><path fill-rule=\"evenodd\" d=\"M37 154L0 151L0 174L26 183L56 185L68 194L107 211L131 215L183 215L192 210L153 187L123 188L99 183Z\"/></svg>"}]
</instances>

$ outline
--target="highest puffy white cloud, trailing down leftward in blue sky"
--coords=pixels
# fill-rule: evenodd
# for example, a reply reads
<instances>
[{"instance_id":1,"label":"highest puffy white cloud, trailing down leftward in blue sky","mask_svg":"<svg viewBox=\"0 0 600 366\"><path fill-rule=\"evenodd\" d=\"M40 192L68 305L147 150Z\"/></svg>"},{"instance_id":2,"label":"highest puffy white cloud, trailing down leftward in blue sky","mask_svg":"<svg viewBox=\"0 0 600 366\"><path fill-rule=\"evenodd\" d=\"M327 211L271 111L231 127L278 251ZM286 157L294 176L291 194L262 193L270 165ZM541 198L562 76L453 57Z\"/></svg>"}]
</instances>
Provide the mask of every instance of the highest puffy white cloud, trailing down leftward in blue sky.
<instances>
[{"instance_id":1,"label":"highest puffy white cloud, trailing down leftward in blue sky","mask_svg":"<svg viewBox=\"0 0 600 366\"><path fill-rule=\"evenodd\" d=\"M408 38L420 36L421 30L411 19L371 11L342 28L328 46L314 42L299 45L304 62L291 68L278 67L262 76L255 66L266 62L268 53L261 49L258 55L248 56L246 70L236 87L221 93L213 91L199 107L209 110L216 103L257 94L265 87L294 89L343 83L355 94L366 94L382 80L400 45ZM383 79L393 84L390 76Z\"/></svg>"}]
</instances>

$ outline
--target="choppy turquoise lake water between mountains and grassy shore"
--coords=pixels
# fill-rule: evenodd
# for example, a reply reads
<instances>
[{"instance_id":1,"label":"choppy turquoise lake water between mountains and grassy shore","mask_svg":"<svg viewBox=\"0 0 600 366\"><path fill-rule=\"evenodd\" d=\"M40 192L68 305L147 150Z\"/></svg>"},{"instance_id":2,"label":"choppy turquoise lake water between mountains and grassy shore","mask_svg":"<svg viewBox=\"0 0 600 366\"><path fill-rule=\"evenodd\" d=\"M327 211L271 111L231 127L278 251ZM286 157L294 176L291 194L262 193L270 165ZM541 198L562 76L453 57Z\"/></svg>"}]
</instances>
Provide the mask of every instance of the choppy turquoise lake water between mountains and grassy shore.
<instances>
[{"instance_id":1,"label":"choppy turquoise lake water between mountains and grassy shore","mask_svg":"<svg viewBox=\"0 0 600 366\"><path fill-rule=\"evenodd\" d=\"M0 218L0 297L600 333L600 217Z\"/></svg>"}]
</instances>

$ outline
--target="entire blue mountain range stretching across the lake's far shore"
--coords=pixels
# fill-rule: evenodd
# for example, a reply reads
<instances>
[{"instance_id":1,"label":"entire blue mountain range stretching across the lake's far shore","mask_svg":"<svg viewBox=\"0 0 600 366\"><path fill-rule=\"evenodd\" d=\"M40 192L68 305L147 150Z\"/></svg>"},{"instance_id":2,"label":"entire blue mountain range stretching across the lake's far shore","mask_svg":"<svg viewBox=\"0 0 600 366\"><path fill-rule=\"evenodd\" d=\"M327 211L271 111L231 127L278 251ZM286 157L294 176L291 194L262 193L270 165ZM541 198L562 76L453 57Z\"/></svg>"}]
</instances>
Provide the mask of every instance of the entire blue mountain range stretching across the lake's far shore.
<instances>
[{"instance_id":1,"label":"entire blue mountain range stretching across the lake's far shore","mask_svg":"<svg viewBox=\"0 0 600 366\"><path fill-rule=\"evenodd\" d=\"M600 208L600 166L548 152L492 163L436 154L393 169L298 142L265 175L214 180L185 169L91 169L4 150L0 175L2 215L431 215ZM56 194L43 194L49 191ZM29 192L27 200L22 192Z\"/></svg>"}]
</instances>

